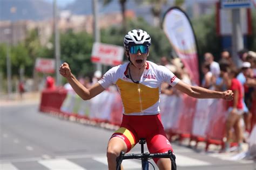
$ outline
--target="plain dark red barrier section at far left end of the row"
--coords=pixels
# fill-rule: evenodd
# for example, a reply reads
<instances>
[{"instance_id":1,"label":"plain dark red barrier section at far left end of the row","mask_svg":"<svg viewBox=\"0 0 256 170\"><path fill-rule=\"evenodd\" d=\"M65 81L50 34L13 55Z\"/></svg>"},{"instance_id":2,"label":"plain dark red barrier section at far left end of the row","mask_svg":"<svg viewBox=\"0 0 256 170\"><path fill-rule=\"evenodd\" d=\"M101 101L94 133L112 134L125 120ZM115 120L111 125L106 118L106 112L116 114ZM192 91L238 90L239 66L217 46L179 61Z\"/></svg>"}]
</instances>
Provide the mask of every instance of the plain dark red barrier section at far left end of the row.
<instances>
[{"instance_id":1,"label":"plain dark red barrier section at far left end of the row","mask_svg":"<svg viewBox=\"0 0 256 170\"><path fill-rule=\"evenodd\" d=\"M41 94L41 103L39 110L43 112L59 112L63 101L66 98L65 89L45 89Z\"/></svg>"}]
</instances>

